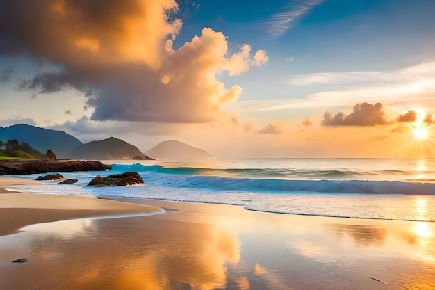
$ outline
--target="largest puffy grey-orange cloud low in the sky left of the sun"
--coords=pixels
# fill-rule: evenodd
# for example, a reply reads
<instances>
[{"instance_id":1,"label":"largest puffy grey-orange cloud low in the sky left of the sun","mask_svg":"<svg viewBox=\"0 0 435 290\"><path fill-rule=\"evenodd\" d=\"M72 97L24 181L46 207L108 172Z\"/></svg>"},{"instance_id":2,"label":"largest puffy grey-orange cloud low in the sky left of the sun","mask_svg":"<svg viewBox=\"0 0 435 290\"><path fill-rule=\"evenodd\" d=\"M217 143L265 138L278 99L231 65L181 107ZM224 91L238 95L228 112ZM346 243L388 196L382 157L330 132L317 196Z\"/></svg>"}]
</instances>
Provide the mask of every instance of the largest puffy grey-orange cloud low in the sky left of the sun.
<instances>
[{"instance_id":1,"label":"largest puffy grey-orange cloud low in the sky left of the sun","mask_svg":"<svg viewBox=\"0 0 435 290\"><path fill-rule=\"evenodd\" d=\"M349 115L339 112L332 115L325 112L322 125L324 126L374 126L377 124L388 124L382 111L382 104L361 103L354 106L354 111Z\"/></svg>"}]
</instances>

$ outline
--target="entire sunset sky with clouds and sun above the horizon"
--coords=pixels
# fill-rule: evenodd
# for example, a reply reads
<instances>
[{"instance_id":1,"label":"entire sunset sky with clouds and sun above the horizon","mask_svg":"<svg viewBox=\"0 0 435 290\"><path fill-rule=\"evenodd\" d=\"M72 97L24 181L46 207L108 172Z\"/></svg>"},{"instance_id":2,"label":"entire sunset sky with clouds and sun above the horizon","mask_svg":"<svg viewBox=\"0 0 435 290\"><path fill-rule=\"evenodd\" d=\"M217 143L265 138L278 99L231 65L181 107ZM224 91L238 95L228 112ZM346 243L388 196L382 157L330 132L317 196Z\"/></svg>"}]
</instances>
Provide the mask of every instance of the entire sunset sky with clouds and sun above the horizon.
<instances>
[{"instance_id":1,"label":"entire sunset sky with clouds and sun above the horizon","mask_svg":"<svg viewBox=\"0 0 435 290\"><path fill-rule=\"evenodd\" d=\"M435 1L0 0L0 126L435 157Z\"/></svg>"}]
</instances>

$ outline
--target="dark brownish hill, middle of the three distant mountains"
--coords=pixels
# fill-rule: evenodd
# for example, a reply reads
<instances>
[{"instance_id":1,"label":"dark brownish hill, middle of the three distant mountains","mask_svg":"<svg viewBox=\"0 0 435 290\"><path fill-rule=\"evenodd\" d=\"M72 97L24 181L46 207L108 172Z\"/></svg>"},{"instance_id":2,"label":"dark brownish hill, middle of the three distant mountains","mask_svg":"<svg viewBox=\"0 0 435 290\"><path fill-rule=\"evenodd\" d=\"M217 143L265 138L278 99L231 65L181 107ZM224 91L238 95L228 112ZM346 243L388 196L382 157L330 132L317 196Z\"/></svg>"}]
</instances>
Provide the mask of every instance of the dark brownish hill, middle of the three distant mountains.
<instances>
[{"instance_id":1,"label":"dark brownish hill, middle of the three distant mountains","mask_svg":"<svg viewBox=\"0 0 435 290\"><path fill-rule=\"evenodd\" d=\"M138 147L118 138L110 137L76 147L67 155L69 159L150 159Z\"/></svg>"}]
</instances>

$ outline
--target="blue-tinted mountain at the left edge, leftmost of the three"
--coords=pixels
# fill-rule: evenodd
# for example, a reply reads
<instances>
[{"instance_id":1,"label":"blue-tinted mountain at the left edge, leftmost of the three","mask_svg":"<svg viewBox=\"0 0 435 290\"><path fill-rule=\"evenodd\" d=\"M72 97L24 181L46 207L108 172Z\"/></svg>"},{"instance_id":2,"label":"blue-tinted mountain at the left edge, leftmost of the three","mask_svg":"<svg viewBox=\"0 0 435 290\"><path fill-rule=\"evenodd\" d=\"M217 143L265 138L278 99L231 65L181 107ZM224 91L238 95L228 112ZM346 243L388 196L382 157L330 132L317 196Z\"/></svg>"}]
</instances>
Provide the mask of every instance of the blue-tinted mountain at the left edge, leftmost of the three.
<instances>
[{"instance_id":1,"label":"blue-tinted mountain at the left edge, leftmost of the three","mask_svg":"<svg viewBox=\"0 0 435 290\"><path fill-rule=\"evenodd\" d=\"M56 131L31 126L28 124L15 124L9 127L0 127L0 140L18 140L30 144L40 152L51 149L58 158L65 158L74 148L83 145L81 141L64 131Z\"/></svg>"}]
</instances>

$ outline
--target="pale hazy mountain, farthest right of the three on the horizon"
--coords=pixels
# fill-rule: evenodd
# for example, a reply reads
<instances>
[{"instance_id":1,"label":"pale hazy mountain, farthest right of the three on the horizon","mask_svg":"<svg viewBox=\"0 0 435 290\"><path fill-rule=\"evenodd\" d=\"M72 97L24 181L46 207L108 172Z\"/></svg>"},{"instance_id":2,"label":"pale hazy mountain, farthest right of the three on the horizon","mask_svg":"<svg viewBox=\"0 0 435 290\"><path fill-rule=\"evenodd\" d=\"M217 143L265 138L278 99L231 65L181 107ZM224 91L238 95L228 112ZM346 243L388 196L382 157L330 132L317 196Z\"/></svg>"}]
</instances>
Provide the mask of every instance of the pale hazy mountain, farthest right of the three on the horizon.
<instances>
[{"instance_id":1,"label":"pale hazy mountain, farthest right of the three on the horizon","mask_svg":"<svg viewBox=\"0 0 435 290\"><path fill-rule=\"evenodd\" d=\"M163 159L195 159L213 157L205 150L190 146L176 140L163 141L145 152L152 158Z\"/></svg>"}]
</instances>

